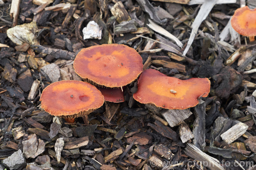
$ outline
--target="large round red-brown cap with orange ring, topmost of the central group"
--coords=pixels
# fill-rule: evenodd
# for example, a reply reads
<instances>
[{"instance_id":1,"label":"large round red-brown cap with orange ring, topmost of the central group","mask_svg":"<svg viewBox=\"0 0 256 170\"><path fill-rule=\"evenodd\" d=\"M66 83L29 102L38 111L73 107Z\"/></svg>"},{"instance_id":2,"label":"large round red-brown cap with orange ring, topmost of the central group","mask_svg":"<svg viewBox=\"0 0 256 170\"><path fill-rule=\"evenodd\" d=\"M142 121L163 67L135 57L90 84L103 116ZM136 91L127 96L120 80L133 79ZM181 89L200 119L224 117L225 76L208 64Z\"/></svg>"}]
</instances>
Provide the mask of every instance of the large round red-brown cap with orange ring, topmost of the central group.
<instances>
[{"instance_id":1,"label":"large round red-brown cap with orange ring, topmost of the central group","mask_svg":"<svg viewBox=\"0 0 256 170\"><path fill-rule=\"evenodd\" d=\"M111 88L131 83L143 71L140 54L122 44L103 44L82 49L76 55L73 66L80 77Z\"/></svg>"}]
</instances>

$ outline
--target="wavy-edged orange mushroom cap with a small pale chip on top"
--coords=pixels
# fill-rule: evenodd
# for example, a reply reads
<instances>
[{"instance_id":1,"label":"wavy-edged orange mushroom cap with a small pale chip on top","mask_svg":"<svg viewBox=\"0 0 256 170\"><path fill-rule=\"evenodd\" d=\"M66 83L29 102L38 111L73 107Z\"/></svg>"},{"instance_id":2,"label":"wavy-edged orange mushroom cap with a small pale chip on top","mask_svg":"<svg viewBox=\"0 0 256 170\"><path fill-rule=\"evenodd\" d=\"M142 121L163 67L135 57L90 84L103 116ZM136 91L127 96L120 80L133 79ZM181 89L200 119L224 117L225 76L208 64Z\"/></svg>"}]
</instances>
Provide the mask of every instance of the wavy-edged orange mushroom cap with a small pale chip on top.
<instances>
[{"instance_id":1,"label":"wavy-edged orange mushroom cap with a small pale chip on top","mask_svg":"<svg viewBox=\"0 0 256 170\"><path fill-rule=\"evenodd\" d=\"M144 70L133 98L140 103L167 109L186 109L198 104L198 97L210 92L208 78L180 80L153 69Z\"/></svg>"}]
</instances>

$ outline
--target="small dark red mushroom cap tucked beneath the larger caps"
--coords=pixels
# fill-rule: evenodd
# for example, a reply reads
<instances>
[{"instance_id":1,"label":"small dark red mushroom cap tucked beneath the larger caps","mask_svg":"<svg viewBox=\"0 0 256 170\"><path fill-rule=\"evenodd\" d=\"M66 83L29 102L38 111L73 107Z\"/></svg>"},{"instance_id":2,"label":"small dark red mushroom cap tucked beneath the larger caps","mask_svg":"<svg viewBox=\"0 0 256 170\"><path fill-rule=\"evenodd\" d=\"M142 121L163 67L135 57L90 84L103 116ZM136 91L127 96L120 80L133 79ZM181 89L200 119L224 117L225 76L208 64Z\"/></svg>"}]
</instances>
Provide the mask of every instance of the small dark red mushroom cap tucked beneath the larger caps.
<instances>
[{"instance_id":1,"label":"small dark red mushroom cap tucked beneath the larger caps","mask_svg":"<svg viewBox=\"0 0 256 170\"><path fill-rule=\"evenodd\" d=\"M118 87L118 88L98 87L98 89L104 96L105 101L109 101L113 103L120 103L125 101L124 92L122 91L121 87Z\"/></svg>"}]
</instances>

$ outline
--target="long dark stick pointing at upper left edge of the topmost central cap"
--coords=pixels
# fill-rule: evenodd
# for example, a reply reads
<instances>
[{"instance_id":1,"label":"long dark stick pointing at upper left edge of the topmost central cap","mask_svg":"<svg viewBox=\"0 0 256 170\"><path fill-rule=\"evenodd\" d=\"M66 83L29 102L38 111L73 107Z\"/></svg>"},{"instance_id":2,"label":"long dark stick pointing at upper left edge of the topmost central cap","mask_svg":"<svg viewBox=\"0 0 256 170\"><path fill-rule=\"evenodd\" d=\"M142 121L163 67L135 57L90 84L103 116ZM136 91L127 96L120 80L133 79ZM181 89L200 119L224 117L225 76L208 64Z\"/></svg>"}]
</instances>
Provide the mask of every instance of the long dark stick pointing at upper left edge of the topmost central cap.
<instances>
[{"instance_id":1,"label":"long dark stick pointing at upper left edge of the topmost central cap","mask_svg":"<svg viewBox=\"0 0 256 170\"><path fill-rule=\"evenodd\" d=\"M75 53L67 51L67 50L61 50L61 49L55 49L55 48L49 48L49 47L44 47L44 46L33 46L33 50L45 53L45 54L50 54L54 56L56 59L65 59L65 60L74 60L75 58Z\"/></svg>"}]
</instances>

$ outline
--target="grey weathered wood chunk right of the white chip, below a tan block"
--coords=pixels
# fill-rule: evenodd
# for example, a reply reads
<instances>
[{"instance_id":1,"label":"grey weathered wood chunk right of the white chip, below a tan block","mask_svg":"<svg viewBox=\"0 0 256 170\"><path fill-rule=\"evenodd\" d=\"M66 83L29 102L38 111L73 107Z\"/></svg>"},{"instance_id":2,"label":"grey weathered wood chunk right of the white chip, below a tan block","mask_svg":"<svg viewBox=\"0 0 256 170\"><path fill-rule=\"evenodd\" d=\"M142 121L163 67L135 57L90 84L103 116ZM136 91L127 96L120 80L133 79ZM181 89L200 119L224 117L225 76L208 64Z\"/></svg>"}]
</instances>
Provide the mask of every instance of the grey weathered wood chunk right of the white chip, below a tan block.
<instances>
[{"instance_id":1,"label":"grey weathered wood chunk right of the white chip, below a tan block","mask_svg":"<svg viewBox=\"0 0 256 170\"><path fill-rule=\"evenodd\" d=\"M115 34L123 34L137 31L137 22L135 20L123 21L115 26Z\"/></svg>"}]
</instances>

